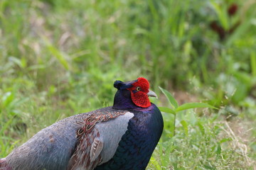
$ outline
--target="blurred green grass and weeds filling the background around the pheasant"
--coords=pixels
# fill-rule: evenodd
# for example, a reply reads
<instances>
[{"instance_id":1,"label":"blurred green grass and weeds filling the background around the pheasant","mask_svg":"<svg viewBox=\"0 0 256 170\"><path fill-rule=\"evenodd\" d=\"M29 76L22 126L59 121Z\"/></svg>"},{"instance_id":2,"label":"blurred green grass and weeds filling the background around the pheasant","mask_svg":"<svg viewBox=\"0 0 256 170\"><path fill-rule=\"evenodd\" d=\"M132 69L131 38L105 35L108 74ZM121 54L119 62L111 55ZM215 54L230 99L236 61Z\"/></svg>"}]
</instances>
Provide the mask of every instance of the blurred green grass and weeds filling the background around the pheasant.
<instances>
[{"instance_id":1,"label":"blurred green grass and weeds filling the background around the pheasant","mask_svg":"<svg viewBox=\"0 0 256 170\"><path fill-rule=\"evenodd\" d=\"M0 157L145 77L179 103L148 169L256 169L255 0L1 0ZM184 121L182 121L184 120ZM186 126L183 123L186 122ZM238 161L240 160L240 161Z\"/></svg>"}]
</instances>

